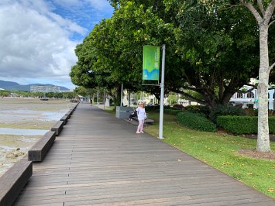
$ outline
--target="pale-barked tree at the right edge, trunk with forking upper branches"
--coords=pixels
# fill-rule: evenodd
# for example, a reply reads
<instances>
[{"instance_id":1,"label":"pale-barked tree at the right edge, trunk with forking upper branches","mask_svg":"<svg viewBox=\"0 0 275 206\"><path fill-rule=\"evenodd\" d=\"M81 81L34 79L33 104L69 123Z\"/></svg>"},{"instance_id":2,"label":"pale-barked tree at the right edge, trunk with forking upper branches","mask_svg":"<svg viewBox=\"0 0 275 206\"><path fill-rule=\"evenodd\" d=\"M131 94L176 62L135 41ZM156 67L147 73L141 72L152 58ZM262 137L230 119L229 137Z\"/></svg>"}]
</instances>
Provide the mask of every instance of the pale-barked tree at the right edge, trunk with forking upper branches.
<instances>
[{"instance_id":1,"label":"pale-barked tree at the right edge, trunk with forking upper branches","mask_svg":"<svg viewBox=\"0 0 275 206\"><path fill-rule=\"evenodd\" d=\"M259 67L259 113L258 113L258 139L256 150L270 151L270 135L268 126L268 87L270 71L275 63L269 60L268 30L274 23L275 0L272 1L245 1L240 0L254 15L259 25L260 67Z\"/></svg>"}]
</instances>

